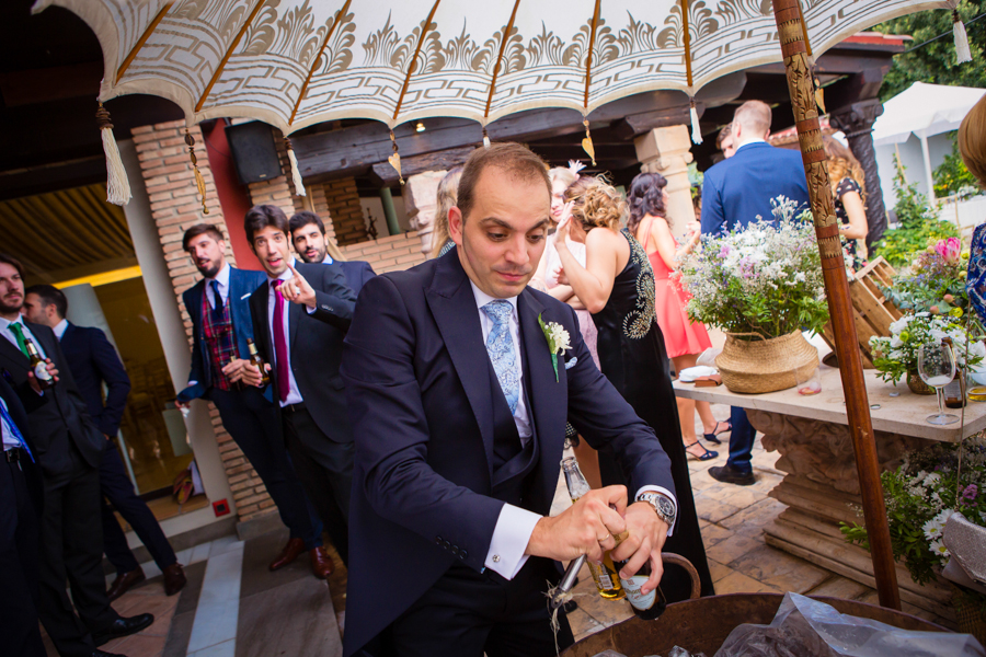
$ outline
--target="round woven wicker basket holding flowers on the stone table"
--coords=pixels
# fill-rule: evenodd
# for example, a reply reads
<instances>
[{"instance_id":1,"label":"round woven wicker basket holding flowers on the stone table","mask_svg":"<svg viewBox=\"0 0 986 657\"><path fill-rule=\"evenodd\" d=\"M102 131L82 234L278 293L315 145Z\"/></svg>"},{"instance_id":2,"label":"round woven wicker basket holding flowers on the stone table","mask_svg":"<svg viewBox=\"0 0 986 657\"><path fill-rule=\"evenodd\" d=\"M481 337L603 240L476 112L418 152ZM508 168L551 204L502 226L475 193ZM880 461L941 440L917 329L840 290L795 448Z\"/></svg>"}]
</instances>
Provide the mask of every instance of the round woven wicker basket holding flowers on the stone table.
<instances>
[{"instance_id":1,"label":"round woven wicker basket holding flowers on the stone table","mask_svg":"<svg viewBox=\"0 0 986 657\"><path fill-rule=\"evenodd\" d=\"M799 377L811 374L818 367L818 349L800 331L772 338L727 333L715 367L733 392L773 392L794 388Z\"/></svg>"}]
</instances>

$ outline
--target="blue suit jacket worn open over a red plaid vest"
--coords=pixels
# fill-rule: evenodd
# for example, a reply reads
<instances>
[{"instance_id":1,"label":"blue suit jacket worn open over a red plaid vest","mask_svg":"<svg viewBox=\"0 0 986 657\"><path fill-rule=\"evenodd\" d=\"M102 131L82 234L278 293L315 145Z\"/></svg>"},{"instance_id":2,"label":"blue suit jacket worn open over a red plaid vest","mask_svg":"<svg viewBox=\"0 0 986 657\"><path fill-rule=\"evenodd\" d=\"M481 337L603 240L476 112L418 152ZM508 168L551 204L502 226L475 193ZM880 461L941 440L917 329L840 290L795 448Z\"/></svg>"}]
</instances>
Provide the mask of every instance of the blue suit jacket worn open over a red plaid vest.
<instances>
[{"instance_id":1,"label":"blue suit jacket worn open over a red plaid vest","mask_svg":"<svg viewBox=\"0 0 986 657\"><path fill-rule=\"evenodd\" d=\"M267 275L263 272L250 269L237 269L229 267L229 303L230 318L232 319L233 333L237 338L237 350L240 358L250 357L250 348L246 338L253 339L253 320L250 318L250 295L259 286L266 284ZM213 362L209 359L209 350L205 348L205 328L202 324L202 296L205 293L205 279L182 293L185 310L192 318L192 371L188 372L188 387L177 395L181 402L191 402L199 397L208 399L208 390L213 387ZM195 382L194 384L192 382ZM271 399L267 393L267 399Z\"/></svg>"}]
</instances>

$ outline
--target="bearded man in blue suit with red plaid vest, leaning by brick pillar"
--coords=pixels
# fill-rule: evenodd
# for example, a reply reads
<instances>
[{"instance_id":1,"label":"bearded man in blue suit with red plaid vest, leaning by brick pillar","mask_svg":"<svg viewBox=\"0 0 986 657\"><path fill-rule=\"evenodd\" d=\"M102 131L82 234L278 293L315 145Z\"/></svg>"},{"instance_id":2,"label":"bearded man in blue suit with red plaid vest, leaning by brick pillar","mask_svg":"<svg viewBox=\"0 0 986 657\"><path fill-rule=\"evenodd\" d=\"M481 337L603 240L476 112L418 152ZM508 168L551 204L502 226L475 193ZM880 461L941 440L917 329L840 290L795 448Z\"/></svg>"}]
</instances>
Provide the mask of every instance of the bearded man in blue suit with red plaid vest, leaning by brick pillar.
<instances>
[{"instance_id":1,"label":"bearded man in blue suit with red plaid vest, leaning by brick pillar","mask_svg":"<svg viewBox=\"0 0 986 657\"><path fill-rule=\"evenodd\" d=\"M210 223L186 230L183 246L204 278L182 293L192 318L192 371L177 404L187 407L196 399L216 404L222 426L277 505L290 534L270 568L283 568L308 551L312 572L324 579L332 573L332 558L322 544L322 525L285 451L277 408L270 393L243 388L233 378L250 358L246 341L254 339L248 299L266 277L227 263L226 241Z\"/></svg>"}]
</instances>

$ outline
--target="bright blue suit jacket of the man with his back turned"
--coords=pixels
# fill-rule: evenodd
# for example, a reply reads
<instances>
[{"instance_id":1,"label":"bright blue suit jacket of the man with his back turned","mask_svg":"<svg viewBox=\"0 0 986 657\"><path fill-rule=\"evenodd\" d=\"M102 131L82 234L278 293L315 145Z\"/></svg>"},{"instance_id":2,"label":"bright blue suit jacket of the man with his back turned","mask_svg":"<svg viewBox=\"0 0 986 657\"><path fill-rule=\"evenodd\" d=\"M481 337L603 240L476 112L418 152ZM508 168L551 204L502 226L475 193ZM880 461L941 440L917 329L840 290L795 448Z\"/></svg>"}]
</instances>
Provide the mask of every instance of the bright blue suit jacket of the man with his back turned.
<instances>
[{"instance_id":1,"label":"bright blue suit jacket of the man with his back turned","mask_svg":"<svg viewBox=\"0 0 986 657\"><path fill-rule=\"evenodd\" d=\"M809 208L801 152L766 142L747 143L709 169L702 183L702 234L718 234L771 220L771 199L786 196Z\"/></svg>"}]
</instances>

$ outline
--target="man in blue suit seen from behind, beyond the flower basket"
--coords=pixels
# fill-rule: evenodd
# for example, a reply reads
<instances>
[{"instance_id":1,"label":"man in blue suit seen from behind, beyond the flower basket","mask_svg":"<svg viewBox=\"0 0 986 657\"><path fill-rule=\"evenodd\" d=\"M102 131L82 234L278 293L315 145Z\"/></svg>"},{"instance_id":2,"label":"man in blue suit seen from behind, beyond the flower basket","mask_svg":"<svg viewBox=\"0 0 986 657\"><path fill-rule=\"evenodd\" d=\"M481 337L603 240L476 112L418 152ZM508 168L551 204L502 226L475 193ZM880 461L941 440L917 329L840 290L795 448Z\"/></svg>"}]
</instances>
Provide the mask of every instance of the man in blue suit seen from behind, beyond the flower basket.
<instances>
[{"instance_id":1,"label":"man in blue suit seen from behind, beyond the flower basket","mask_svg":"<svg viewBox=\"0 0 986 657\"><path fill-rule=\"evenodd\" d=\"M772 219L772 200L784 196L807 207L807 181L801 153L767 143L770 106L747 101L736 108L730 126L732 157L709 169L702 183L702 234L719 234ZM725 143L725 141L723 141ZM748 486L756 482L750 464L756 430L746 411L734 406L730 414L730 458L725 465L709 469L721 482Z\"/></svg>"}]
</instances>

